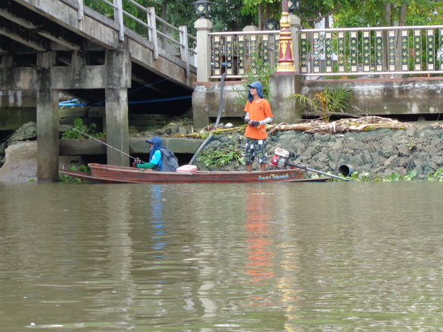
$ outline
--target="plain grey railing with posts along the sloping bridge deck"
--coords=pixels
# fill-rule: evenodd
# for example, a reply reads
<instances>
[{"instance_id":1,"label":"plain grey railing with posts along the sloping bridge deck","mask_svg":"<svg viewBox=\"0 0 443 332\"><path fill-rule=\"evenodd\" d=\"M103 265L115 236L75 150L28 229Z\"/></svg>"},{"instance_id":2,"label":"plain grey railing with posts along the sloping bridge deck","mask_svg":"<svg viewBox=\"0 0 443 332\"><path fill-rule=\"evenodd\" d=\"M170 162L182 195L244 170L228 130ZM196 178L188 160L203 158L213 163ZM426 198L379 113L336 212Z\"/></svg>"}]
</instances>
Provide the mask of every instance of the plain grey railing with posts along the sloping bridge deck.
<instances>
[{"instance_id":1,"label":"plain grey railing with posts along the sloping bridge deck","mask_svg":"<svg viewBox=\"0 0 443 332\"><path fill-rule=\"evenodd\" d=\"M84 0L78 1L78 19L84 17ZM125 26L147 39L153 44L154 59L159 58L159 44L161 48L177 48L181 59L186 63L186 75L190 75L190 55L197 55L197 52L190 48L197 42L197 39L188 34L186 26L179 28L172 26L167 21L155 14L154 7L145 8L134 0L99 0L91 9L110 17L116 21L119 27L119 39L125 39ZM138 17L132 15L129 8L139 10ZM125 24L126 23L126 24ZM157 28L161 27L161 29Z\"/></svg>"}]
</instances>

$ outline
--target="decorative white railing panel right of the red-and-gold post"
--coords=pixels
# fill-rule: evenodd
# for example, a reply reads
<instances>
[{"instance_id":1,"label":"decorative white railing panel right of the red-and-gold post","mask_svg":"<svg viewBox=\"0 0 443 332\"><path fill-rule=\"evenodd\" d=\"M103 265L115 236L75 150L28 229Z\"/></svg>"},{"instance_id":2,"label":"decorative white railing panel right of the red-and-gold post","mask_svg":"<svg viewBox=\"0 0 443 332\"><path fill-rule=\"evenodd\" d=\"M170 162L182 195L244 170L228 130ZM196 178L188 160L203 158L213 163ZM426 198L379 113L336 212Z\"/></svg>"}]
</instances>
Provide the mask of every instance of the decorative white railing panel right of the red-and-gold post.
<instances>
[{"instance_id":1,"label":"decorative white railing panel right of the red-and-gold post","mask_svg":"<svg viewBox=\"0 0 443 332\"><path fill-rule=\"evenodd\" d=\"M306 76L443 73L443 26L305 29L297 37Z\"/></svg>"}]
</instances>

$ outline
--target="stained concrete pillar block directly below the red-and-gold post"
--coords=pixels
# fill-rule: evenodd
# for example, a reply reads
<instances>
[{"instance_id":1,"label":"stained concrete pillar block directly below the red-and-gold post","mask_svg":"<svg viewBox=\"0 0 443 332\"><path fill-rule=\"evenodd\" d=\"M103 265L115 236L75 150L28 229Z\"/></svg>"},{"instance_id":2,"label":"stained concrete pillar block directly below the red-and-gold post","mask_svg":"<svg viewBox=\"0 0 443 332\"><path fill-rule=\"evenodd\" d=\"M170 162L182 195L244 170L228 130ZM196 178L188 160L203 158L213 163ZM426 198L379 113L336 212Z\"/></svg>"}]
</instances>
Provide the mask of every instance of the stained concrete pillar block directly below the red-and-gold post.
<instances>
[{"instance_id":1,"label":"stained concrete pillar block directly below the red-and-gold post","mask_svg":"<svg viewBox=\"0 0 443 332\"><path fill-rule=\"evenodd\" d=\"M273 74L269 77L271 109L274 116L273 123L300 122L302 109L295 100L287 100L289 95L301 92L301 75Z\"/></svg>"}]
</instances>

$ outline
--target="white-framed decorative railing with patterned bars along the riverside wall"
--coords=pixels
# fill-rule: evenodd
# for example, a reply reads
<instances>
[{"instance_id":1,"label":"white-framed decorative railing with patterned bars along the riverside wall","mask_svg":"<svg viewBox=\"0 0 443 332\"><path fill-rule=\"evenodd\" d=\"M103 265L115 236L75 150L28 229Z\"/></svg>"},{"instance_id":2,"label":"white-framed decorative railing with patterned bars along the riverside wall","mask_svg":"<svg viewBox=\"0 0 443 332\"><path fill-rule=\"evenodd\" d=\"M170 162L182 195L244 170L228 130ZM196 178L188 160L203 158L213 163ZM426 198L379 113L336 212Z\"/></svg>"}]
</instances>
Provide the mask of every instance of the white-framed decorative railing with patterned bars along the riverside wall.
<instances>
[{"instance_id":1,"label":"white-framed decorative railing with patterned bars along the riverside wall","mask_svg":"<svg viewBox=\"0 0 443 332\"><path fill-rule=\"evenodd\" d=\"M210 33L211 76L244 77L253 59L275 66L280 31ZM298 72L308 77L443 74L443 26L303 29L293 34Z\"/></svg>"}]
</instances>

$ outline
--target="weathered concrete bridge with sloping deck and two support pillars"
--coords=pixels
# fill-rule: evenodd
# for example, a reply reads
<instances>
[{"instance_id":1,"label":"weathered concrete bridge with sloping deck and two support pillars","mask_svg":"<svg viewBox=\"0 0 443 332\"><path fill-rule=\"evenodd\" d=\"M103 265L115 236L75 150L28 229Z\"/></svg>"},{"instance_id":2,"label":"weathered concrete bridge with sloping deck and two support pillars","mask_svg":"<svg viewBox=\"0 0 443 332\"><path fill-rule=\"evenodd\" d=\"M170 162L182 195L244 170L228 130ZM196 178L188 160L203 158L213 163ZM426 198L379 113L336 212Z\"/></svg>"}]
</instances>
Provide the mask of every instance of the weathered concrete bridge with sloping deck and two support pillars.
<instances>
[{"instance_id":1,"label":"weathered concrete bridge with sloping deck and two support pillars","mask_svg":"<svg viewBox=\"0 0 443 332\"><path fill-rule=\"evenodd\" d=\"M114 3L110 19L81 0L0 1L0 127L9 118L37 120L39 181L58 179L60 93L105 104L107 144L125 153L128 113L174 115L191 107L197 69L186 27L176 28L177 55L159 47L159 39L171 39L156 30L153 8L146 9L149 37L142 37L123 26L122 1ZM107 158L129 163L113 149Z\"/></svg>"}]
</instances>

